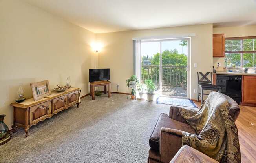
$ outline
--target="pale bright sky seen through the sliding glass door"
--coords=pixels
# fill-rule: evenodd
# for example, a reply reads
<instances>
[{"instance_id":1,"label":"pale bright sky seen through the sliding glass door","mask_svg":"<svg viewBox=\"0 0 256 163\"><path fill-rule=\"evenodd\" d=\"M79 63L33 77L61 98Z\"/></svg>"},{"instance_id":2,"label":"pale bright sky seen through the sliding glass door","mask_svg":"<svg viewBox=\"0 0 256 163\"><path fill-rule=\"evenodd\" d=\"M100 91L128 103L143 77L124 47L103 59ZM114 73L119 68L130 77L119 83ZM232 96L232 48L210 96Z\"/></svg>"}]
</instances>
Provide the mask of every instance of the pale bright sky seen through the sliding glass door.
<instances>
[{"instance_id":1,"label":"pale bright sky seen through the sliding glass door","mask_svg":"<svg viewBox=\"0 0 256 163\"><path fill-rule=\"evenodd\" d=\"M179 45L181 40L162 41L162 52L165 50L177 49L178 53L182 54L182 46ZM184 54L188 55L188 47L183 47ZM160 52L160 42L142 42L141 56L152 57L157 52Z\"/></svg>"}]
</instances>

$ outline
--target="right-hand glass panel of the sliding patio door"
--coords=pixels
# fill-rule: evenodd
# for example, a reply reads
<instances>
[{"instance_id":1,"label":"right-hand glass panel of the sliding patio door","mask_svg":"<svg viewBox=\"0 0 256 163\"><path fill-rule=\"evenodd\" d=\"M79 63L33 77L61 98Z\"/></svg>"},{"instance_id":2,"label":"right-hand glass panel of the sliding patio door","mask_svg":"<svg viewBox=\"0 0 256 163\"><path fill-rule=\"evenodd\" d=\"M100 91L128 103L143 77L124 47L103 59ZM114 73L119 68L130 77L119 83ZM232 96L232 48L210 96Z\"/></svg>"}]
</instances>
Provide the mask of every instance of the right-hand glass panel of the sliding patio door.
<instances>
[{"instance_id":1,"label":"right-hand glass panel of the sliding patio door","mask_svg":"<svg viewBox=\"0 0 256 163\"><path fill-rule=\"evenodd\" d=\"M162 40L160 92L163 96L187 97L187 40Z\"/></svg>"}]
</instances>

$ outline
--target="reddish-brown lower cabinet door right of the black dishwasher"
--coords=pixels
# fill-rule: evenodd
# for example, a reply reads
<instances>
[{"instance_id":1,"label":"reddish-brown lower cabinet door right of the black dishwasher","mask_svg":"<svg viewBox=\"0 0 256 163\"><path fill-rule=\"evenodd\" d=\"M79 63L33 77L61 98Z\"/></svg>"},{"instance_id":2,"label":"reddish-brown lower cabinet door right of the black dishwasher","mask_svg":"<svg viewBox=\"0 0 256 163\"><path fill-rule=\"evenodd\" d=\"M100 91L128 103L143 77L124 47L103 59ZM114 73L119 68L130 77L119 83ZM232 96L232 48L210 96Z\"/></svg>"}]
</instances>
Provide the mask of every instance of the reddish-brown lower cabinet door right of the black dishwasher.
<instances>
[{"instance_id":1,"label":"reddish-brown lower cabinet door right of the black dishwasher","mask_svg":"<svg viewBox=\"0 0 256 163\"><path fill-rule=\"evenodd\" d=\"M256 103L256 76L243 76L243 103Z\"/></svg>"}]
</instances>

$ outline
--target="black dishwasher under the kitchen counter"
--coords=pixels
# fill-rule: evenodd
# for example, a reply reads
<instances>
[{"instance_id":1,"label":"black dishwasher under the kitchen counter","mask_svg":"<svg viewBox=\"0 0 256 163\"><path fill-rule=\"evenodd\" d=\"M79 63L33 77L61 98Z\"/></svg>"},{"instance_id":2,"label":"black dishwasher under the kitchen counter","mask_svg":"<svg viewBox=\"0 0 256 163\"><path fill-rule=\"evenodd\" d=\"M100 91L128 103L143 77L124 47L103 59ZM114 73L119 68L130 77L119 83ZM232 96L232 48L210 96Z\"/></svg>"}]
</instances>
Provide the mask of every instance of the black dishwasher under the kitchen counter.
<instances>
[{"instance_id":1,"label":"black dishwasher under the kitchen counter","mask_svg":"<svg viewBox=\"0 0 256 163\"><path fill-rule=\"evenodd\" d=\"M217 75L216 85L221 87L221 93L231 97L238 104L242 101L241 75Z\"/></svg>"}]
</instances>

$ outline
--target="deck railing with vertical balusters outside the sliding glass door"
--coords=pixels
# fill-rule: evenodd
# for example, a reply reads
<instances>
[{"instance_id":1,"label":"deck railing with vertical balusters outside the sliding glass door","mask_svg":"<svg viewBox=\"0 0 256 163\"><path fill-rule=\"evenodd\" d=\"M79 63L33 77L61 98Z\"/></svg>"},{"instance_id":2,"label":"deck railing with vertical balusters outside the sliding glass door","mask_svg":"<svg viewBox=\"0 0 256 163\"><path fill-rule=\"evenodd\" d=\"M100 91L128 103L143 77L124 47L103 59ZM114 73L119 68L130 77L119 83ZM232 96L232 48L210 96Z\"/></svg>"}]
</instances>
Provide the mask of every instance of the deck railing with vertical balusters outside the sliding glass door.
<instances>
[{"instance_id":1,"label":"deck railing with vertical balusters outside the sliding glass door","mask_svg":"<svg viewBox=\"0 0 256 163\"><path fill-rule=\"evenodd\" d=\"M162 85L181 87L181 82L185 80L187 85L187 66L162 66ZM141 80L152 80L155 85L159 85L159 66L142 65Z\"/></svg>"}]
</instances>

